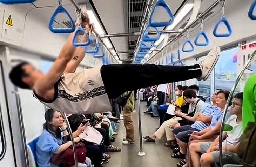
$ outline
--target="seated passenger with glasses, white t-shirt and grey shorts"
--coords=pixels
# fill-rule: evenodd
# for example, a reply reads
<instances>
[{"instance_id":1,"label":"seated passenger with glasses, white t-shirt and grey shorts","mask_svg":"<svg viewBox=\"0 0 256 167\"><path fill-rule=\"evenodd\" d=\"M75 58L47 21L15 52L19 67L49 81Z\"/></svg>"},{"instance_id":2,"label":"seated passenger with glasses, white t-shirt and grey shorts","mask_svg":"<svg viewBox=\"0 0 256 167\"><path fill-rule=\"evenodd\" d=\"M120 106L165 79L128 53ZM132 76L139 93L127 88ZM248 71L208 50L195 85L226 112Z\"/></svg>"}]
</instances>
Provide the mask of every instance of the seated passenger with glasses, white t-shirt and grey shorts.
<instances>
[{"instance_id":1,"label":"seated passenger with glasses, white t-shirt and grey shorts","mask_svg":"<svg viewBox=\"0 0 256 167\"><path fill-rule=\"evenodd\" d=\"M223 132L222 154L224 164L239 164L237 157L237 145L242 138L242 102L243 93L237 93L230 113L232 114L225 124L231 126L229 130ZM189 146L190 155L193 157L194 167L220 166L219 141L218 136L214 142L191 143ZM200 154L202 154L200 158Z\"/></svg>"}]
</instances>

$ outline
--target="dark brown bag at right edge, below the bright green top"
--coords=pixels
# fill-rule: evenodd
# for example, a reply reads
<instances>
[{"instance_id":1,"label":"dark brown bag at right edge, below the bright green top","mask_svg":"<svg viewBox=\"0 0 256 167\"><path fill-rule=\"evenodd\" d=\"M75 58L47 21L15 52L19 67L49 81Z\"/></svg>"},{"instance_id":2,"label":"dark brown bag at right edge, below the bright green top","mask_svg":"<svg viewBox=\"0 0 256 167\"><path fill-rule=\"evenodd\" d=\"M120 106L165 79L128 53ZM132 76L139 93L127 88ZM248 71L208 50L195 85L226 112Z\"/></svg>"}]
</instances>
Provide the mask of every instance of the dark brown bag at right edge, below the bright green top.
<instances>
[{"instance_id":1,"label":"dark brown bag at right edge, below the bright green top","mask_svg":"<svg viewBox=\"0 0 256 167\"><path fill-rule=\"evenodd\" d=\"M237 146L237 155L246 167L256 167L256 122L248 122Z\"/></svg>"}]
</instances>

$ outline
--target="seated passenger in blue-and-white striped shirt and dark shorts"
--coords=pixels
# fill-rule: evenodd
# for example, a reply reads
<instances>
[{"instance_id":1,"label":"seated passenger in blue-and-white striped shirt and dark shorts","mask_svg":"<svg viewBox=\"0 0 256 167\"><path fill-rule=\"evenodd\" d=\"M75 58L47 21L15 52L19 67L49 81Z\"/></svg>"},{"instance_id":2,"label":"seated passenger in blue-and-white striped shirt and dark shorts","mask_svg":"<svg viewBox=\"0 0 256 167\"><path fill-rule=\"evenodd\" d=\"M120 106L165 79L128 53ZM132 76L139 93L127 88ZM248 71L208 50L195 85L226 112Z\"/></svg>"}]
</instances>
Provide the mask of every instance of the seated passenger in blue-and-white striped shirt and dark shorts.
<instances>
[{"instance_id":1,"label":"seated passenger in blue-and-white striped shirt and dark shorts","mask_svg":"<svg viewBox=\"0 0 256 167\"><path fill-rule=\"evenodd\" d=\"M229 92L227 93L227 97L228 95L229 95ZM208 105L206 108L202 109L201 112L194 115L194 118L191 119L191 121L194 121L194 124L192 124L191 126L184 125L181 127L177 127L173 130L173 133L175 135L175 138L180 148L174 149L174 151L177 153L173 154L171 157L185 158L189 137L193 133L193 131L195 131L194 133L196 134L196 132L202 131L210 126L210 122L211 122L210 115L213 115L214 113L218 113L220 111L220 108L218 108L218 106L216 105L217 101L215 97L212 98L212 101L213 101L213 105ZM199 121L196 119L198 115L201 115L201 117L204 116L207 118L203 121Z\"/></svg>"}]
</instances>

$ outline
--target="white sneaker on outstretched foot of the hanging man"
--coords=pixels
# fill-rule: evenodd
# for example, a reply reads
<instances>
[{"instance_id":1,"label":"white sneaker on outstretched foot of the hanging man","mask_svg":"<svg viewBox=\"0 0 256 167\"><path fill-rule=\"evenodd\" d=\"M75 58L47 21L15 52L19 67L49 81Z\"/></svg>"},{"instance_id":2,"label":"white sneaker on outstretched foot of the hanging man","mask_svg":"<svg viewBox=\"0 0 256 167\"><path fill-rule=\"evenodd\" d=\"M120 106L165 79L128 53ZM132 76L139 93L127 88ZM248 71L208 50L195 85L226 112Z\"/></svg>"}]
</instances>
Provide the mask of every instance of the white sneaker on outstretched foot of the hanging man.
<instances>
[{"instance_id":1,"label":"white sneaker on outstretched foot of the hanging man","mask_svg":"<svg viewBox=\"0 0 256 167\"><path fill-rule=\"evenodd\" d=\"M200 78L197 78L198 81L201 80L207 80L209 75L211 74L211 71L215 67L216 63L218 62L218 59L220 58L221 54L221 48L220 47L214 47L206 58L204 58L201 61L198 61L197 64L200 65L202 70L202 76Z\"/></svg>"}]
</instances>

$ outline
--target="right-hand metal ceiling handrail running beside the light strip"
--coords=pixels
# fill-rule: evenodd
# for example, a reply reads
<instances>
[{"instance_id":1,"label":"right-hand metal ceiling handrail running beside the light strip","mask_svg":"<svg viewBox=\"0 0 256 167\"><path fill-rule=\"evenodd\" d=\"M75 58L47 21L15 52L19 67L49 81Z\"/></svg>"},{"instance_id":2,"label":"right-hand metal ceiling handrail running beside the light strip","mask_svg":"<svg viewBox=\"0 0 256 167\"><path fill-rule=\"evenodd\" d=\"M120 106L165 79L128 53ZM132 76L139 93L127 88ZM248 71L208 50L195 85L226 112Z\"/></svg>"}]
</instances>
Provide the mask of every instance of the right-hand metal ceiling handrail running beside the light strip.
<instances>
[{"instance_id":1,"label":"right-hand metal ceiling handrail running beside the light strip","mask_svg":"<svg viewBox=\"0 0 256 167\"><path fill-rule=\"evenodd\" d=\"M216 2L214 2L209 8L207 8L206 10L204 10L203 13L201 13L199 16L196 17L196 19L191 22L186 28L184 28L184 31L181 33L178 33L176 35L176 37L174 37L173 39L171 39L170 41L167 42L166 45L164 45L156 54L154 54L153 56L151 56L149 60L151 60L155 55L157 55L158 53L160 53L164 48L166 48L170 43L172 43L173 41L177 40L181 35L183 35L184 32L186 32L187 29L191 28L191 26L193 26L198 20L200 20L201 18L203 18L206 14L208 14L213 8L215 8L215 6L217 6L219 4L219 1L217 0ZM148 62L147 61L147 62ZM147 63L146 62L146 63Z\"/></svg>"}]
</instances>

